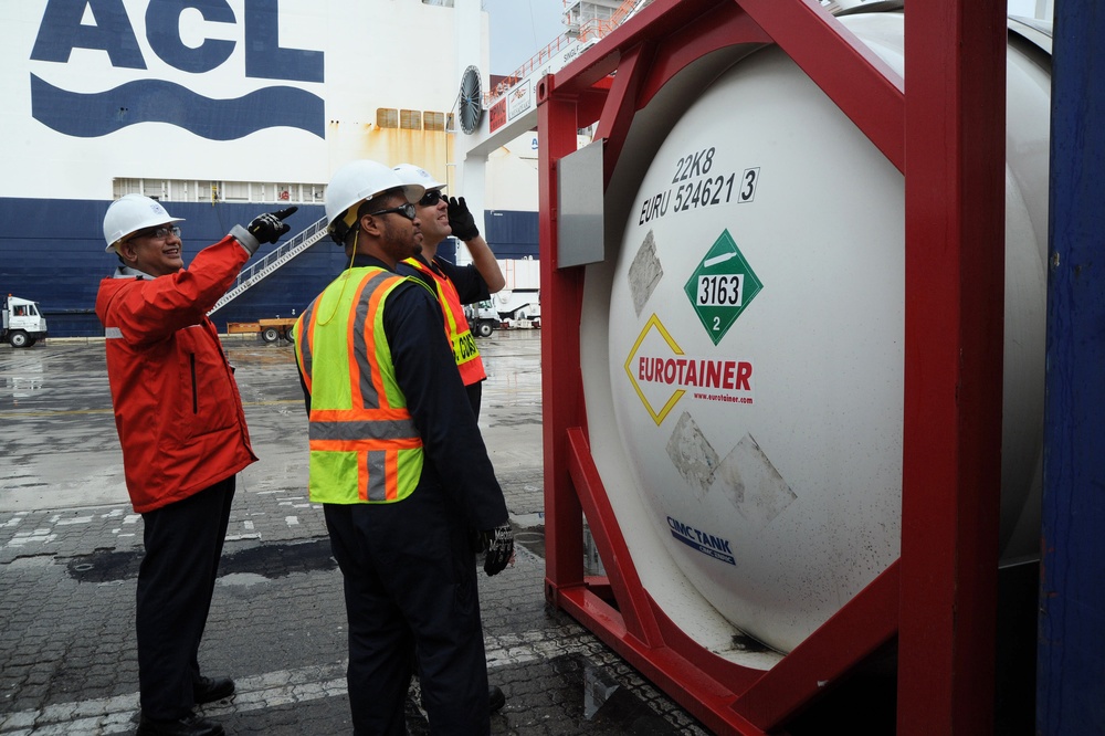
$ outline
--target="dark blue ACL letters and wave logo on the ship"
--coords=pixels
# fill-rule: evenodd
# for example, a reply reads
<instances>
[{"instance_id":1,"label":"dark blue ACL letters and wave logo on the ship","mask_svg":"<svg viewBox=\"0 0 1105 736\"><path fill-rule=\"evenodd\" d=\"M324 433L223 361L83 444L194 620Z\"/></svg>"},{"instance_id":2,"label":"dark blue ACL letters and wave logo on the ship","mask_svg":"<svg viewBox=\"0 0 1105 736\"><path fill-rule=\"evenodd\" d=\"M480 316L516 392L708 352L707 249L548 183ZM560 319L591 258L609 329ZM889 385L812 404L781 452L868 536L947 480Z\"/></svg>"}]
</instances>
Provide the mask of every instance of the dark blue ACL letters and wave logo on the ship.
<instances>
[{"instance_id":1,"label":"dark blue ACL letters and wave logo on the ship","mask_svg":"<svg viewBox=\"0 0 1105 736\"><path fill-rule=\"evenodd\" d=\"M244 0L241 19L227 0L150 0L140 27L131 22L124 0L48 0L31 61L67 65L74 49L88 49L105 52L114 69L146 71L149 66L135 32L144 28L149 50L165 64L190 74L213 72L231 59L239 41L203 35L199 45L191 45L189 34L186 43L182 21L193 21L196 13L203 24L189 28L200 34L213 34L211 24L241 25L246 78L324 81L322 51L281 48L275 0ZM42 71L56 81L54 67L43 66ZM232 140L276 126L325 137L323 98L287 85L217 99L158 78L78 93L32 73L31 115L59 133L81 138L104 136L138 123L168 123L211 140Z\"/></svg>"}]
</instances>

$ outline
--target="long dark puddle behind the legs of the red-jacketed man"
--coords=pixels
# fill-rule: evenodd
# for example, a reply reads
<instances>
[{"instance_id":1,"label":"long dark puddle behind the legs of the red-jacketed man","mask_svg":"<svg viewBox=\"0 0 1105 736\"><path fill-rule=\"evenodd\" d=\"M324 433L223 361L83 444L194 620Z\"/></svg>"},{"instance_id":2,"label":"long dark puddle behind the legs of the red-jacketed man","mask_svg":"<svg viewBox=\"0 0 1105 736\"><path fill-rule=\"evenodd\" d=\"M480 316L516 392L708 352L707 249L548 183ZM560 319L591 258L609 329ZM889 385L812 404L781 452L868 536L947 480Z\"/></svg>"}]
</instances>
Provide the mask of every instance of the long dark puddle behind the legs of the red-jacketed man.
<instances>
[{"instance_id":1,"label":"long dark puddle behind the legs of the red-jacketed man","mask_svg":"<svg viewBox=\"0 0 1105 736\"><path fill-rule=\"evenodd\" d=\"M78 582L114 582L138 577L143 550L96 550L91 555L70 558L66 568ZM337 568L330 556L328 538L294 544L261 544L244 549L224 551L219 564L219 577L259 575L270 580L292 572L327 571Z\"/></svg>"}]
</instances>

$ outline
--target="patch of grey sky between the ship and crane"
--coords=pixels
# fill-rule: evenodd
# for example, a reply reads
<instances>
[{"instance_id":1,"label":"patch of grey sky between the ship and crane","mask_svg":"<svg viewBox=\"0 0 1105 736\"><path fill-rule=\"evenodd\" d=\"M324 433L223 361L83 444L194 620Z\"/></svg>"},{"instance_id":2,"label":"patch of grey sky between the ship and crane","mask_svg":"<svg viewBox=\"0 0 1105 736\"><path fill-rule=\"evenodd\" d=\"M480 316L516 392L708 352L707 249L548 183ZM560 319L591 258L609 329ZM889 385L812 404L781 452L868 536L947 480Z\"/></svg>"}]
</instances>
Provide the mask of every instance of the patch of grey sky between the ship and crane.
<instances>
[{"instance_id":1,"label":"patch of grey sky between the ship and crane","mask_svg":"<svg viewBox=\"0 0 1105 736\"><path fill-rule=\"evenodd\" d=\"M492 74L514 72L564 33L562 0L483 0L491 22Z\"/></svg>"}]
</instances>

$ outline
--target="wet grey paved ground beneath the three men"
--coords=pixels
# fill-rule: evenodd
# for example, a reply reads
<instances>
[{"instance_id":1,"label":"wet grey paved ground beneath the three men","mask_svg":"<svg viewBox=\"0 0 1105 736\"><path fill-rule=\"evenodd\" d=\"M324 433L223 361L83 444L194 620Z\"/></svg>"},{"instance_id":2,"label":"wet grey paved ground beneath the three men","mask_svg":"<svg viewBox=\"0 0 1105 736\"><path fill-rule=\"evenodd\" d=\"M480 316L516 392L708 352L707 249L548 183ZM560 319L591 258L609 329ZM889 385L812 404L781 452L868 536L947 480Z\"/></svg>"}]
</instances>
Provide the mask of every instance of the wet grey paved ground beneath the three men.
<instances>
[{"instance_id":1,"label":"wet grey paved ground beneath the three men","mask_svg":"<svg viewBox=\"0 0 1105 736\"><path fill-rule=\"evenodd\" d=\"M341 579L306 497L306 418L292 349L224 341L261 461L238 494L200 662L238 693L203 708L228 734L349 734ZM480 576L493 734L705 734L543 596L540 339L497 332L481 430L517 560ZM141 517L127 501L103 341L0 346L0 736L133 733ZM417 693L410 734L427 734Z\"/></svg>"}]
</instances>

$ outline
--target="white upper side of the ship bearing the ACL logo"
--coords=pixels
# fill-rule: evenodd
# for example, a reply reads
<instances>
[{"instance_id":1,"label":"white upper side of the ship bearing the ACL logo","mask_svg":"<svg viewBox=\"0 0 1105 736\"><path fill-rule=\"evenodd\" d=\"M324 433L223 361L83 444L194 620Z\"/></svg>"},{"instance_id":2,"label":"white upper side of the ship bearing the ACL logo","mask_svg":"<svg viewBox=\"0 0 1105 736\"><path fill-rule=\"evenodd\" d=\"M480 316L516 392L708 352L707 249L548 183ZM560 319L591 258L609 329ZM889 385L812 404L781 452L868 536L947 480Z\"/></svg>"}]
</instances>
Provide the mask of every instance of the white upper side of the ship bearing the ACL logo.
<instances>
[{"instance_id":1,"label":"white upper side of the ship bearing the ACL logo","mask_svg":"<svg viewBox=\"0 0 1105 736\"><path fill-rule=\"evenodd\" d=\"M0 194L311 201L352 158L444 169L460 72L487 66L478 0L452 4L8 3L0 119L25 176Z\"/></svg>"}]
</instances>

